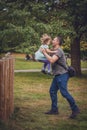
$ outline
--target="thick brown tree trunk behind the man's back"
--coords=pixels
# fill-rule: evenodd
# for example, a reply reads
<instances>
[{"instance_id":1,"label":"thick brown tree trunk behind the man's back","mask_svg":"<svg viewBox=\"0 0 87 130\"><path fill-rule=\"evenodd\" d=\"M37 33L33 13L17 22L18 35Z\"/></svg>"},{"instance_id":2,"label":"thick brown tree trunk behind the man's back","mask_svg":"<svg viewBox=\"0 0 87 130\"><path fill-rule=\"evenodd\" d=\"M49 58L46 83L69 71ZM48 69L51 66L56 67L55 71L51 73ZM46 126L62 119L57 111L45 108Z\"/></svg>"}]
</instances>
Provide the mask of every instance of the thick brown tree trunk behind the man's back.
<instances>
[{"instance_id":1,"label":"thick brown tree trunk behind the man's back","mask_svg":"<svg viewBox=\"0 0 87 130\"><path fill-rule=\"evenodd\" d=\"M81 61L80 61L80 39L75 37L71 43L71 65L76 70L76 76L81 75Z\"/></svg>"}]
</instances>

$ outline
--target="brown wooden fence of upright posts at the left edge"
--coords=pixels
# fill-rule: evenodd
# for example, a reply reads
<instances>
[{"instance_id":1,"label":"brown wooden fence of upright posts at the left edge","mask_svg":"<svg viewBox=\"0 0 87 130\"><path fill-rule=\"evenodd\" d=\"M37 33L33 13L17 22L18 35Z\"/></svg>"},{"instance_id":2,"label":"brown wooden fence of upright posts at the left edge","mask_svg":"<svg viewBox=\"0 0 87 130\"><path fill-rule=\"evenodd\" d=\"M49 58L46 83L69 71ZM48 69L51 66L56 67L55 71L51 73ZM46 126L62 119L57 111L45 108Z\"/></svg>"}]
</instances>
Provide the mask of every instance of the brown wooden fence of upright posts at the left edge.
<instances>
[{"instance_id":1,"label":"brown wooden fence of upright posts at the left edge","mask_svg":"<svg viewBox=\"0 0 87 130\"><path fill-rule=\"evenodd\" d=\"M0 120L7 121L14 111L14 57L0 59Z\"/></svg>"}]
</instances>

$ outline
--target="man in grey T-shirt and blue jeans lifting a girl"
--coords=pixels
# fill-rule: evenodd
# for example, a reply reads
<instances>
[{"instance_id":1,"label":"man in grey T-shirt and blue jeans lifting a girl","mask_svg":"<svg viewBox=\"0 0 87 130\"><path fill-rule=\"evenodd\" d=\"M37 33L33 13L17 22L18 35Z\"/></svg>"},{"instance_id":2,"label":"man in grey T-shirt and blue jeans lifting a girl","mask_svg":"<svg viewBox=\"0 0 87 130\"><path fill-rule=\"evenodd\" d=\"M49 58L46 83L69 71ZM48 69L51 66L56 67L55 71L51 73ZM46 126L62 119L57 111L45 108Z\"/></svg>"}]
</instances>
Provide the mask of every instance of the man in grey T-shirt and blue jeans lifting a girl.
<instances>
[{"instance_id":1,"label":"man in grey T-shirt and blue jeans lifting a girl","mask_svg":"<svg viewBox=\"0 0 87 130\"><path fill-rule=\"evenodd\" d=\"M52 56L50 56L45 49L42 49L45 57L52 64L52 72L54 74L54 78L50 87L50 97L52 101L51 110L46 112L45 114L58 114L58 106L57 106L57 91L60 90L60 93L66 100L69 102L70 108L72 110L72 114L70 118L75 118L79 114L79 108L75 103L73 97L69 94L67 90L67 83L69 79L69 75L67 72L66 59L63 50L61 49L62 45L61 37L55 37L52 41L53 50L56 51Z\"/></svg>"}]
</instances>

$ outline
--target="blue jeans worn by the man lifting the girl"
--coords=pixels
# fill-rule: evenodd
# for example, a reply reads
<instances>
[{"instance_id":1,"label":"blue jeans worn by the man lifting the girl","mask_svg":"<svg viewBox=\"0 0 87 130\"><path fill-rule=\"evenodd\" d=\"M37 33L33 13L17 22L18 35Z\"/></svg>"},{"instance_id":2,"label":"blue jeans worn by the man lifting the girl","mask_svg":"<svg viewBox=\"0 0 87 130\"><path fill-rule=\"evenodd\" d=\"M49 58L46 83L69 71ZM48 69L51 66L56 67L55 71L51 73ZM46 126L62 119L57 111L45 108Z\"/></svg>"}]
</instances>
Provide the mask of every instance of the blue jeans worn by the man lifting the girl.
<instances>
[{"instance_id":1,"label":"blue jeans worn by the man lifting the girl","mask_svg":"<svg viewBox=\"0 0 87 130\"><path fill-rule=\"evenodd\" d=\"M52 100L52 106L51 109L53 111L56 111L58 109L57 103L58 103L58 98L57 98L57 91L60 90L60 93L66 100L69 102L71 110L75 111L78 109L77 105L75 104L75 100L73 97L69 94L67 90L67 82L69 79L68 73L55 76L53 78L51 87L50 87L50 97Z\"/></svg>"}]
</instances>

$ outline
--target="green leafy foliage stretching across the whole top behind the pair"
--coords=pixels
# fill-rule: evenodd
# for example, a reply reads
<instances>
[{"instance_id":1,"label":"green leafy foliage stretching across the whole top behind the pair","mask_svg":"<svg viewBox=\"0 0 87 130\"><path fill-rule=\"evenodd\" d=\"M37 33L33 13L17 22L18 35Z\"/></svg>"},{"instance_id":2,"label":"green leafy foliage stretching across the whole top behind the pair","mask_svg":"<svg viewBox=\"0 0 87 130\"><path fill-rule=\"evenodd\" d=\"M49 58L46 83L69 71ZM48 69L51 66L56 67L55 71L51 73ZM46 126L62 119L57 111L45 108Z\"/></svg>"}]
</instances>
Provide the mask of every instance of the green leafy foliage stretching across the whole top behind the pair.
<instances>
[{"instance_id":1,"label":"green leafy foliage stretching across the whole top behind the pair","mask_svg":"<svg viewBox=\"0 0 87 130\"><path fill-rule=\"evenodd\" d=\"M85 10L86 0L1 0L0 51L32 53L40 46L43 33L52 38L62 35L67 47L68 36L79 35L83 41L87 36Z\"/></svg>"}]
</instances>

